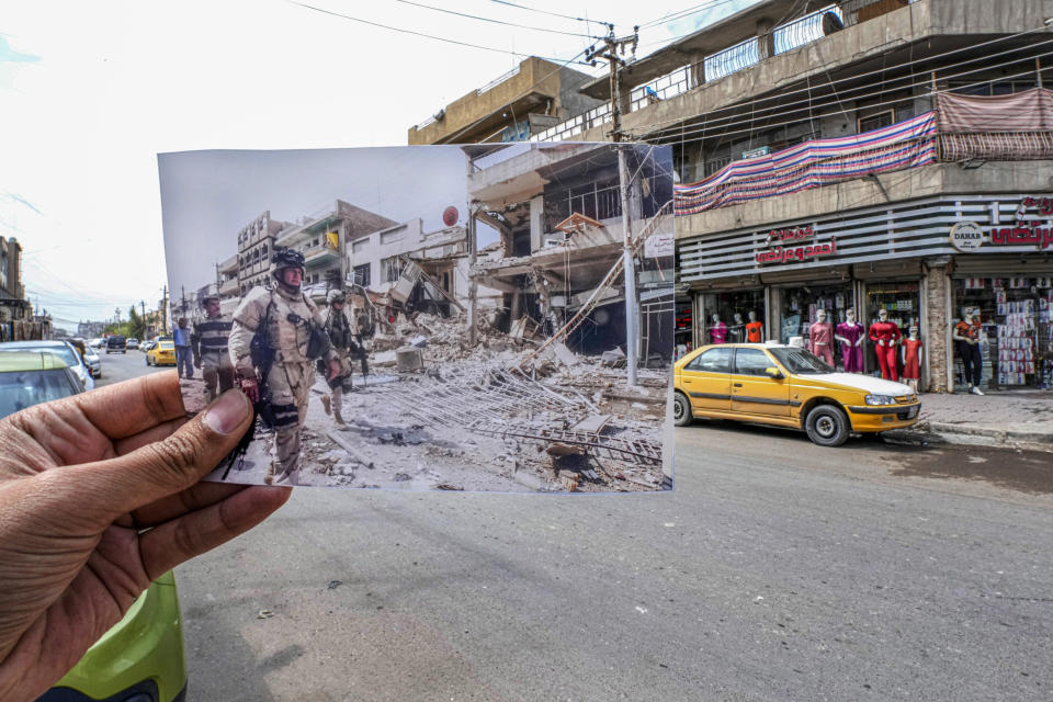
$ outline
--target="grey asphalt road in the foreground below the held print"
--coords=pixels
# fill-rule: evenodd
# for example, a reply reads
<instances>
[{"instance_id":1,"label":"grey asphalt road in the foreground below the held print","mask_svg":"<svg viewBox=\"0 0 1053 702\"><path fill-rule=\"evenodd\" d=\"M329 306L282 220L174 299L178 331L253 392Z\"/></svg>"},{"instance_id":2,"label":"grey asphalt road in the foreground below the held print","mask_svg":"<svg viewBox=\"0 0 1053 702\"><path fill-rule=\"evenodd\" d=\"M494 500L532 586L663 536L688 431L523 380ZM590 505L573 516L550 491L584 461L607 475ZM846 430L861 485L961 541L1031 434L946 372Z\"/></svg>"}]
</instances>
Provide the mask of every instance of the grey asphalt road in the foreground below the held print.
<instances>
[{"instance_id":1,"label":"grey asphalt road in the foreground below the held print","mask_svg":"<svg viewBox=\"0 0 1053 702\"><path fill-rule=\"evenodd\" d=\"M1053 699L1046 454L676 449L672 494L297 489L178 569L190 699Z\"/></svg>"}]
</instances>

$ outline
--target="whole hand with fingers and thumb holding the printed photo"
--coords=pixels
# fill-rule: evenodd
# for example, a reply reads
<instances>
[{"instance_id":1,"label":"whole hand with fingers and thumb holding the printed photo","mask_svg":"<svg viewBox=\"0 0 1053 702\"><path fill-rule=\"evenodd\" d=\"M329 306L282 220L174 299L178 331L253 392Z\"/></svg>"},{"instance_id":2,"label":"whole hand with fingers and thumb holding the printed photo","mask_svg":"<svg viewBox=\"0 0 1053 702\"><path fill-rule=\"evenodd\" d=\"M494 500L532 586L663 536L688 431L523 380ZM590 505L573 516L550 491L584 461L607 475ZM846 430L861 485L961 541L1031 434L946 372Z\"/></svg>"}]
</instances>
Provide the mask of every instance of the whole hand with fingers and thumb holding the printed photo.
<instances>
[{"instance_id":1,"label":"whole hand with fingers and thumb holding the printed photo","mask_svg":"<svg viewBox=\"0 0 1053 702\"><path fill-rule=\"evenodd\" d=\"M228 390L188 421L163 373L0 420L0 699L35 700L152 580L288 499L199 483L251 419Z\"/></svg>"}]
</instances>

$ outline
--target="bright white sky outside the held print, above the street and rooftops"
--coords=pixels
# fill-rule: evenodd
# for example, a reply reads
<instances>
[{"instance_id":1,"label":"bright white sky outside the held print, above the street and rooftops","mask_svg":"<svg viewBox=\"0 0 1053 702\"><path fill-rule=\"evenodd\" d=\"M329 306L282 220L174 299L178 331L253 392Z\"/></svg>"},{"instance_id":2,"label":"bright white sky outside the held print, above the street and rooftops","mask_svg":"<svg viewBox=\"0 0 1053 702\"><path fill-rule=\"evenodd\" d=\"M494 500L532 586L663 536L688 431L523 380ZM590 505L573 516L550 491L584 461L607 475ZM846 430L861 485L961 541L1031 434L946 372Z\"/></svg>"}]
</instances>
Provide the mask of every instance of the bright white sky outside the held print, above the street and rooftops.
<instances>
[{"instance_id":1,"label":"bright white sky outside the held print, above the street and rooftops","mask_svg":"<svg viewBox=\"0 0 1053 702\"><path fill-rule=\"evenodd\" d=\"M157 154L405 145L526 55L571 59L592 43L580 34L605 32L597 20L641 25L643 57L754 2L5 0L0 236L57 326L149 309L166 280Z\"/></svg>"}]
</instances>

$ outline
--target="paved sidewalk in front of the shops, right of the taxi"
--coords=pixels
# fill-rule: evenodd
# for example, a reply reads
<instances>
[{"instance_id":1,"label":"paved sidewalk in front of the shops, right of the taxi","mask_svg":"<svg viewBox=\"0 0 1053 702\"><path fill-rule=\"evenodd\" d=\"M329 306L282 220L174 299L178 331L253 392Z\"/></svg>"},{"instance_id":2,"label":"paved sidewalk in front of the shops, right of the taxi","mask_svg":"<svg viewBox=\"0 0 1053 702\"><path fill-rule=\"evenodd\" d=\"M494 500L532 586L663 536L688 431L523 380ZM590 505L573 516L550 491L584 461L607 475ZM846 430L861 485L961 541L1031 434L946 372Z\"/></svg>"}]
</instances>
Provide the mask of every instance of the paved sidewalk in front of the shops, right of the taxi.
<instances>
[{"instance_id":1,"label":"paved sidewalk in front of the shops, right of the taxi","mask_svg":"<svg viewBox=\"0 0 1053 702\"><path fill-rule=\"evenodd\" d=\"M921 396L918 423L890 434L941 443L1044 444L1053 450L1053 392L929 393Z\"/></svg>"}]
</instances>

